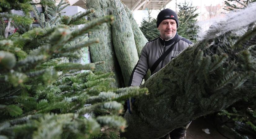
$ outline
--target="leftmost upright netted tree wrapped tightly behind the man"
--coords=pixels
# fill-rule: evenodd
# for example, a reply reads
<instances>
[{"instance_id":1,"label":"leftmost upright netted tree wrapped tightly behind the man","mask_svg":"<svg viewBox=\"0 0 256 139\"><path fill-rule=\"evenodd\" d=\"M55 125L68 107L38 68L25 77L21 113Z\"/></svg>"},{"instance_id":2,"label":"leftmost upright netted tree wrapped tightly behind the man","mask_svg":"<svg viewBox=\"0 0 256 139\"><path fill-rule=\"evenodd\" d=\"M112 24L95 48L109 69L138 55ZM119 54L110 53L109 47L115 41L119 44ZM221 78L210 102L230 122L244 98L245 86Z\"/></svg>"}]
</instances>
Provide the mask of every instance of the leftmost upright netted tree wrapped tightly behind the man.
<instances>
[{"instance_id":1,"label":"leftmost upright netted tree wrapped tightly behind the man","mask_svg":"<svg viewBox=\"0 0 256 139\"><path fill-rule=\"evenodd\" d=\"M87 0L87 8L93 8L95 10L88 19L93 20L110 15L109 5L109 0ZM124 87L122 73L115 56L112 42L111 25L109 23L103 23L100 29L89 34L89 38L100 39L100 43L89 46L92 62L105 61L105 64L97 65L95 71L113 72L116 80L115 86Z\"/></svg>"}]
</instances>

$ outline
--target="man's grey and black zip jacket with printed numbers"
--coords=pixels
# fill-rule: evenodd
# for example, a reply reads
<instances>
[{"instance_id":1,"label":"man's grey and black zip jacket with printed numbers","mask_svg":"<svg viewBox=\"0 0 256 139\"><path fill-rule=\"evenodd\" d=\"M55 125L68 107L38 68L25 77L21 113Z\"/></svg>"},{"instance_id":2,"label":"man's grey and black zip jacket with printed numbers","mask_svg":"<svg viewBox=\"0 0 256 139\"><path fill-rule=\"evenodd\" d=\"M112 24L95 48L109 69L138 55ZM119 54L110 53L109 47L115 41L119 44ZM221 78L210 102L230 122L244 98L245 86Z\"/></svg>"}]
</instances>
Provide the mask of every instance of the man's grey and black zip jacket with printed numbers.
<instances>
[{"instance_id":1,"label":"man's grey and black zip jacket with printed numbers","mask_svg":"<svg viewBox=\"0 0 256 139\"><path fill-rule=\"evenodd\" d=\"M147 70L152 68L155 61L157 61L157 59L172 46L178 36L179 35L176 33L172 39L164 40L161 37L158 37L146 43L146 45L142 48L140 59L132 71L128 86L140 86ZM174 57L181 53L183 49L187 48L191 44L192 42L185 38L178 41L173 46L173 50L165 57L163 61L159 63L156 69L154 71L150 70L151 75L163 68L169 63L169 61L171 61Z\"/></svg>"}]
</instances>

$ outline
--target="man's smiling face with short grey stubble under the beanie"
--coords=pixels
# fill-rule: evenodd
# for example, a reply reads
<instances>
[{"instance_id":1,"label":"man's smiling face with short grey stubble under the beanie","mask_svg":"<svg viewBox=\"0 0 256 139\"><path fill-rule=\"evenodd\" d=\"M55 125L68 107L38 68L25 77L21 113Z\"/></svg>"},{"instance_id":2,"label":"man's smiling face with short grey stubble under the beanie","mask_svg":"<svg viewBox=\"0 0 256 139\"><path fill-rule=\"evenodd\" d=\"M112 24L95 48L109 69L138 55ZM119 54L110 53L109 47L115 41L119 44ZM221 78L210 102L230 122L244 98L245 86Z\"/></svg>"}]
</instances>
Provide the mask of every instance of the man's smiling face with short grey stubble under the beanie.
<instances>
[{"instance_id":1,"label":"man's smiling face with short grey stubble under the beanie","mask_svg":"<svg viewBox=\"0 0 256 139\"><path fill-rule=\"evenodd\" d=\"M161 37L164 40L171 39L173 36L176 35L177 32L177 23L173 19L164 19L157 29L160 32Z\"/></svg>"}]
</instances>

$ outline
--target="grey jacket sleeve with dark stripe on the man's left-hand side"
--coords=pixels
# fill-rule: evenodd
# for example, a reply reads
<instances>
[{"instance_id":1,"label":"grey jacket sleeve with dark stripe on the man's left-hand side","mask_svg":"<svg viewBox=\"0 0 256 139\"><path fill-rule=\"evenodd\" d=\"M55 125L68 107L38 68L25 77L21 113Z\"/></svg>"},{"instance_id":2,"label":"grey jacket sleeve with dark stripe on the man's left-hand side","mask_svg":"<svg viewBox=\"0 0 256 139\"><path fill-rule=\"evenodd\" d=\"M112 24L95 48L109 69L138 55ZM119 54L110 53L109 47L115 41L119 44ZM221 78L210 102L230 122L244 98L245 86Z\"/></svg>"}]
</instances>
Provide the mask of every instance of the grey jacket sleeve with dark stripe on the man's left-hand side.
<instances>
[{"instance_id":1,"label":"grey jacket sleeve with dark stripe on the man's left-hand side","mask_svg":"<svg viewBox=\"0 0 256 139\"><path fill-rule=\"evenodd\" d=\"M132 71L128 86L140 86L144 75L149 69L146 47L147 47L147 44L142 48L141 56Z\"/></svg>"}]
</instances>

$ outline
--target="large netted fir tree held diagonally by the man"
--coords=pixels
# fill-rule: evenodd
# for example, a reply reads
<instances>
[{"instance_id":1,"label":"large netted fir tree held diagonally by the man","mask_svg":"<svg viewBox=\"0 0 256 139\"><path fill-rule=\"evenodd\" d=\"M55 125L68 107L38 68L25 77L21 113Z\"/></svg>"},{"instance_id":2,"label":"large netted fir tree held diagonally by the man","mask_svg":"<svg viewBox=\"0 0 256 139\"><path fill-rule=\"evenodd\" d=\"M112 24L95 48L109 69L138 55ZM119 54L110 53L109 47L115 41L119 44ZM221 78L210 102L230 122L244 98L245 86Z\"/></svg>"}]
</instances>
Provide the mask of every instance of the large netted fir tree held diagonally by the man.
<instances>
[{"instance_id":1,"label":"large netted fir tree held diagonally by the man","mask_svg":"<svg viewBox=\"0 0 256 139\"><path fill-rule=\"evenodd\" d=\"M129 139L158 139L200 116L256 95L256 4L214 23L141 87L126 112ZM240 21L240 22L238 22ZM241 23L242 22L242 23Z\"/></svg>"}]
</instances>

